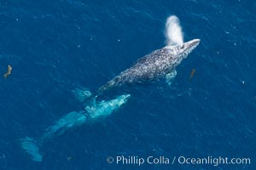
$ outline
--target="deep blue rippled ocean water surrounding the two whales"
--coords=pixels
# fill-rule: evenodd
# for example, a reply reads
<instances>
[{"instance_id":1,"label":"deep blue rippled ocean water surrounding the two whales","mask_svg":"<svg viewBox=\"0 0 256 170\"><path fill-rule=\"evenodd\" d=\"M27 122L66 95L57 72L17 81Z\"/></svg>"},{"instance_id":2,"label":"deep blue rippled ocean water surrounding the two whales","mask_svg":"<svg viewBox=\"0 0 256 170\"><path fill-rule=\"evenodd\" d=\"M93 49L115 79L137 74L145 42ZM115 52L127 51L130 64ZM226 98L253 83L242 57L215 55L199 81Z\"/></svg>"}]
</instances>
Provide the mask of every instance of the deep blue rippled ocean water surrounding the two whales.
<instances>
[{"instance_id":1,"label":"deep blue rippled ocean water surrounding the two whales","mask_svg":"<svg viewBox=\"0 0 256 170\"><path fill-rule=\"evenodd\" d=\"M0 78L0 169L256 169L255 8L253 0L1 1L0 73L13 71ZM111 116L40 144L43 160L32 161L19 139L39 139L62 116L83 111L74 88L96 90L164 47L171 14L185 41L201 39L172 86L133 87ZM251 164L106 161L122 155L249 157Z\"/></svg>"}]
</instances>

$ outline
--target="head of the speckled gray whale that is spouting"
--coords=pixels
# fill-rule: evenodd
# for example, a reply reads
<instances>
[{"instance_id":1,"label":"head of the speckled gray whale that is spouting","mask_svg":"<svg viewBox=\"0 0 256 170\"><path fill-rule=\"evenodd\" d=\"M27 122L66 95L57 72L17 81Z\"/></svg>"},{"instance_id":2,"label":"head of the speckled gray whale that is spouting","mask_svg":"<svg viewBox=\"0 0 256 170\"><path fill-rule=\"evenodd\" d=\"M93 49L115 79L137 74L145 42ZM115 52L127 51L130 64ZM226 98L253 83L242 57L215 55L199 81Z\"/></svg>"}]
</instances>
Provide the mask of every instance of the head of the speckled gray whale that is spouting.
<instances>
[{"instance_id":1,"label":"head of the speckled gray whale that is spouting","mask_svg":"<svg viewBox=\"0 0 256 170\"><path fill-rule=\"evenodd\" d=\"M172 62L176 65L180 64L199 45L200 41L200 39L194 39L175 46L167 46L166 48L169 48L169 52L172 54Z\"/></svg>"}]
</instances>

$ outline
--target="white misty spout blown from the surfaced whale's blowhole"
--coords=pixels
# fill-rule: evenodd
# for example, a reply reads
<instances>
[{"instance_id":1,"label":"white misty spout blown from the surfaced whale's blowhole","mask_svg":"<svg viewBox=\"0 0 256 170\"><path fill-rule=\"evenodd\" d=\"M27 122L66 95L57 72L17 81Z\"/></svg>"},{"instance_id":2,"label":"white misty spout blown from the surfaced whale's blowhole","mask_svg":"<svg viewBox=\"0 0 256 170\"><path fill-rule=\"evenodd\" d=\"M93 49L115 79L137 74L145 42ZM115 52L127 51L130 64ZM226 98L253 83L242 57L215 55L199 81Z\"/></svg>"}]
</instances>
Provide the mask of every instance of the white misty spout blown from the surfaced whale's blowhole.
<instances>
[{"instance_id":1,"label":"white misty spout blown from the surfaced whale's blowhole","mask_svg":"<svg viewBox=\"0 0 256 170\"><path fill-rule=\"evenodd\" d=\"M183 44L183 31L177 16L172 15L166 20L167 45Z\"/></svg>"}]
</instances>

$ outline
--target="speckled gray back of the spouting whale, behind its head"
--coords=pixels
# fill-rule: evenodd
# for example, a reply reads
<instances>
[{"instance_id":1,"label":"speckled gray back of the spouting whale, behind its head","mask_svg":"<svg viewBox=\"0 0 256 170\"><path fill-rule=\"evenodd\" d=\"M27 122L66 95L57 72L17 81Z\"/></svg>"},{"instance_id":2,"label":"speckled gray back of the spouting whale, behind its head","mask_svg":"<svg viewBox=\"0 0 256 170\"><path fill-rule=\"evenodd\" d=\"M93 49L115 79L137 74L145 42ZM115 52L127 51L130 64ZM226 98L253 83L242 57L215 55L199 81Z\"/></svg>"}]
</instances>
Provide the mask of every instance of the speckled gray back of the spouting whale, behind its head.
<instances>
[{"instance_id":1,"label":"speckled gray back of the spouting whale, behind its head","mask_svg":"<svg viewBox=\"0 0 256 170\"><path fill-rule=\"evenodd\" d=\"M138 59L135 65L122 71L118 76L107 82L99 92L133 83L149 82L164 77L174 69L172 53L168 48L160 48Z\"/></svg>"}]
</instances>

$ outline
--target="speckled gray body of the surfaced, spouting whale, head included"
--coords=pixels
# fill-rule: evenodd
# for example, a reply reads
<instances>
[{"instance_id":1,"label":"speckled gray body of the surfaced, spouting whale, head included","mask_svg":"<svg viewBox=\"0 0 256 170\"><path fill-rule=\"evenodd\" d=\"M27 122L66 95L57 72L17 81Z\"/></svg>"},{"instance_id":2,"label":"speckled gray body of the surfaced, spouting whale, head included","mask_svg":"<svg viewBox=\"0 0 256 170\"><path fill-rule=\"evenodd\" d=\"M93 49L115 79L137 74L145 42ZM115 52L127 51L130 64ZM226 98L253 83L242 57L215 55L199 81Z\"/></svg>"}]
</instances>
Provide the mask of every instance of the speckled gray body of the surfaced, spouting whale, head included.
<instances>
[{"instance_id":1,"label":"speckled gray body of the surfaced, spouting whale, head included","mask_svg":"<svg viewBox=\"0 0 256 170\"><path fill-rule=\"evenodd\" d=\"M194 39L180 45L167 45L164 48L154 50L138 59L135 65L104 84L97 90L96 96L112 88L166 77L167 74L175 71L176 66L199 45L200 41L200 39Z\"/></svg>"}]
</instances>

